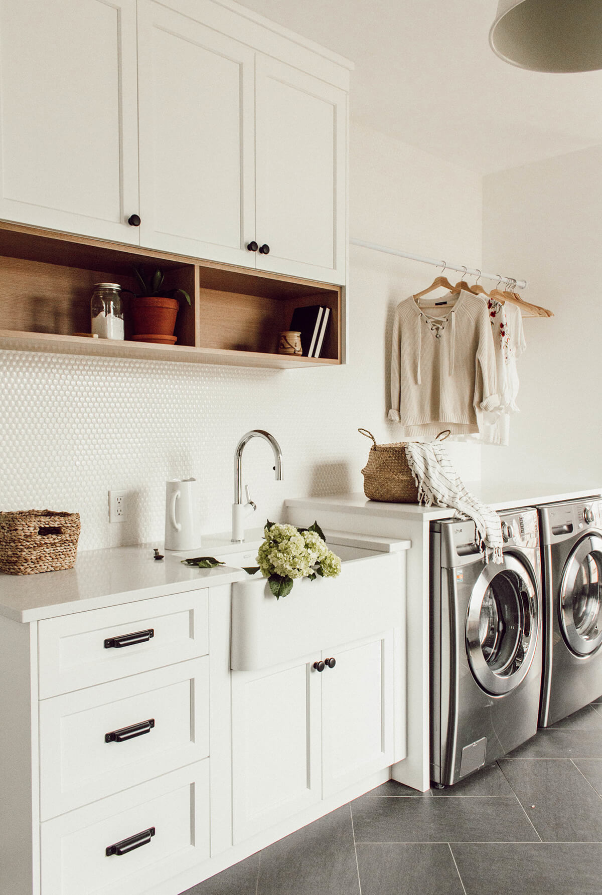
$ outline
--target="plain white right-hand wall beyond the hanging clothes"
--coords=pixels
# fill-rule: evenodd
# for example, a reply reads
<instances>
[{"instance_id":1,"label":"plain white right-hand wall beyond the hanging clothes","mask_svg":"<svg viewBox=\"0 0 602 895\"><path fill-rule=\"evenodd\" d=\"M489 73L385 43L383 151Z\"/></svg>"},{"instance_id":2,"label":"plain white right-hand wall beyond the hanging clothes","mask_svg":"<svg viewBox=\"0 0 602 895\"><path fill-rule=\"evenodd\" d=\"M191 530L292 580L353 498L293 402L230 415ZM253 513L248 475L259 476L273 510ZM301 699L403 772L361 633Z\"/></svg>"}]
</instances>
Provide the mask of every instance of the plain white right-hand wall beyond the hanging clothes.
<instances>
[{"instance_id":1,"label":"plain white right-hand wall beyond the hanging clothes","mask_svg":"<svg viewBox=\"0 0 602 895\"><path fill-rule=\"evenodd\" d=\"M602 147L488 175L483 267L526 277L520 414L509 447L483 448L491 481L602 481Z\"/></svg>"}]
</instances>

